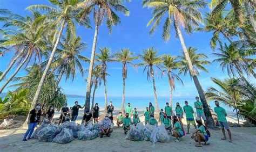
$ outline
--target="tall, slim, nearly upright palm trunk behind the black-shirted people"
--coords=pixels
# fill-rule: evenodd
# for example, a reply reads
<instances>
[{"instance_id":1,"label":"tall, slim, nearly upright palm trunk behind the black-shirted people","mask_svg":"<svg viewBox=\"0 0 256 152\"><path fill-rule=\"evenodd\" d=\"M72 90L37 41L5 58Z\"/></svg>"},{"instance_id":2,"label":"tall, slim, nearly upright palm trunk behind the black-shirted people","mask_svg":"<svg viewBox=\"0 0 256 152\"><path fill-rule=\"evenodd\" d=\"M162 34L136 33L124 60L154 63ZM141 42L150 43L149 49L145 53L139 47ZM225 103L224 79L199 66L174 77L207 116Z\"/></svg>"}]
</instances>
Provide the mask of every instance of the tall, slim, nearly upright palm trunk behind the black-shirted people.
<instances>
[{"instance_id":1,"label":"tall, slim, nearly upright palm trunk behind the black-shirted people","mask_svg":"<svg viewBox=\"0 0 256 152\"><path fill-rule=\"evenodd\" d=\"M99 18L100 18L100 5L98 6L97 20L95 21L96 23L95 34L93 38L91 61L90 61L90 67L89 67L88 77L87 77L84 113L86 112L86 110L90 110L92 68L93 68L93 63L95 58L95 50L96 50L97 37L98 37L98 29L99 29L99 21L100 21Z\"/></svg>"}]
</instances>

